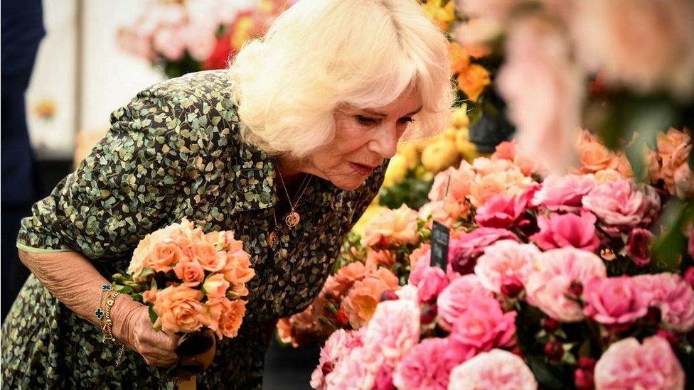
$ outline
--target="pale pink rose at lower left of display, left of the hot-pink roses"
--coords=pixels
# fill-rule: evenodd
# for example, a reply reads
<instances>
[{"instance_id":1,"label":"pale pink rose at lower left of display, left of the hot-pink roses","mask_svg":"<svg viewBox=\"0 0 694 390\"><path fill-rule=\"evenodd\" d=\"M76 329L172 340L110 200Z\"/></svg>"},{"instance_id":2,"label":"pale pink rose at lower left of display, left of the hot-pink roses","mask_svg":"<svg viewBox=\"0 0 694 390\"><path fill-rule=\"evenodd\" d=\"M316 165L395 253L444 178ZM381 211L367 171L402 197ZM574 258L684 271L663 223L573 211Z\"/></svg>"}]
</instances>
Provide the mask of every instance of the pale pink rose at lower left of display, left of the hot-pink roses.
<instances>
[{"instance_id":1,"label":"pale pink rose at lower left of display, left of the hot-pink roses","mask_svg":"<svg viewBox=\"0 0 694 390\"><path fill-rule=\"evenodd\" d=\"M420 309L411 300L387 300L376 307L364 333L364 347L395 364L420 340Z\"/></svg>"}]
</instances>

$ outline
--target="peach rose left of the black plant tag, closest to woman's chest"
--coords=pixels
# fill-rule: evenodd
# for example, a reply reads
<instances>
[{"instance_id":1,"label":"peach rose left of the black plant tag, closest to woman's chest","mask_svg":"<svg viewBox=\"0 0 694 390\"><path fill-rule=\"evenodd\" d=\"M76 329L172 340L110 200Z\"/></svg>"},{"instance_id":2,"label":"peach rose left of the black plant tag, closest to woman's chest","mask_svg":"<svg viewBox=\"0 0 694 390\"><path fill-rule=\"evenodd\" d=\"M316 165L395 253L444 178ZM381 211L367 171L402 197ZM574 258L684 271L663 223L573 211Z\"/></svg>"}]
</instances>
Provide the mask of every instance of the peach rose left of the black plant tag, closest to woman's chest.
<instances>
[{"instance_id":1,"label":"peach rose left of the black plant tag, closest to woman's chest","mask_svg":"<svg viewBox=\"0 0 694 390\"><path fill-rule=\"evenodd\" d=\"M406 205L397 210L384 208L369 220L361 244L366 247L410 244L417 241L417 212Z\"/></svg>"}]
</instances>

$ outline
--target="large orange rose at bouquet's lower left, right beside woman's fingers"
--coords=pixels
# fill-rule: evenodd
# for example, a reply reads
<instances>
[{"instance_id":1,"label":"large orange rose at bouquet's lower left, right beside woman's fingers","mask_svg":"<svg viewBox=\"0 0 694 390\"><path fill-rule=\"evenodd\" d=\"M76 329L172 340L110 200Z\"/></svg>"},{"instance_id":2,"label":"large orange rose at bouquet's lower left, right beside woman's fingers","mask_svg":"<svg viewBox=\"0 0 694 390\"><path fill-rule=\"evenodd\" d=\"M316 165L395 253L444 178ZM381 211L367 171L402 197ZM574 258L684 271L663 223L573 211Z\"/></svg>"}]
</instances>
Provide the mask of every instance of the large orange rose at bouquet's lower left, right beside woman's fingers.
<instances>
[{"instance_id":1,"label":"large orange rose at bouquet's lower left, right beside woman's fingers","mask_svg":"<svg viewBox=\"0 0 694 390\"><path fill-rule=\"evenodd\" d=\"M203 292L187 286L171 286L159 291L154 303L154 313L159 317L154 323L167 335L176 332L195 332L203 324L199 315L203 311Z\"/></svg>"}]
</instances>

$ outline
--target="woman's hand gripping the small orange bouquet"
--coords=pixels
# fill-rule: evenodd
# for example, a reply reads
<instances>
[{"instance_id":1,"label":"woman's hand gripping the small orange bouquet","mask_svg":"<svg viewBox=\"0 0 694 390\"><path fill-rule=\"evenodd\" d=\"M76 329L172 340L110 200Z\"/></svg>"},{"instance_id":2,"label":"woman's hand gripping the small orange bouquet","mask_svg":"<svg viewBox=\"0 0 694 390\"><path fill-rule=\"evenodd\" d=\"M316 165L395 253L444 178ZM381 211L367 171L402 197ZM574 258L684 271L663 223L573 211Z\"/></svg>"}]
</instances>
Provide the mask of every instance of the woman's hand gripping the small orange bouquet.
<instances>
[{"instance_id":1,"label":"woman's hand gripping the small orange bouquet","mask_svg":"<svg viewBox=\"0 0 694 390\"><path fill-rule=\"evenodd\" d=\"M113 335L141 354L147 364L170 367L178 361L175 352L178 336L156 332L149 320L147 306L128 297L117 299L112 308L112 319Z\"/></svg>"}]
</instances>

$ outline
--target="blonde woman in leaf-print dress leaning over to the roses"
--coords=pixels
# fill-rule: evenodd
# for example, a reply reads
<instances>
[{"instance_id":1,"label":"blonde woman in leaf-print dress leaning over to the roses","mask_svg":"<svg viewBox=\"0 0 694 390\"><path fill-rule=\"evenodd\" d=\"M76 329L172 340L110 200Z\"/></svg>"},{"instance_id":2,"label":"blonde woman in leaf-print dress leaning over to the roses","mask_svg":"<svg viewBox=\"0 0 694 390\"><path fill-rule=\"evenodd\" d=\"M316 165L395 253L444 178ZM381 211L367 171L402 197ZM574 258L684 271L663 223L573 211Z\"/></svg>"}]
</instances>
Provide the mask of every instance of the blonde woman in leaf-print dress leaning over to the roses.
<instances>
[{"instance_id":1,"label":"blonde woman in leaf-print dress leaning over to the roses","mask_svg":"<svg viewBox=\"0 0 694 390\"><path fill-rule=\"evenodd\" d=\"M22 222L33 276L4 325L4 384L171 386L158 367L176 362L177 340L152 330L146 306L113 305L118 366L94 311L139 240L188 217L235 230L256 272L239 335L198 383L259 387L277 318L320 291L398 139L445 125L449 80L446 40L415 1L304 0L230 70L138 94Z\"/></svg>"}]
</instances>

